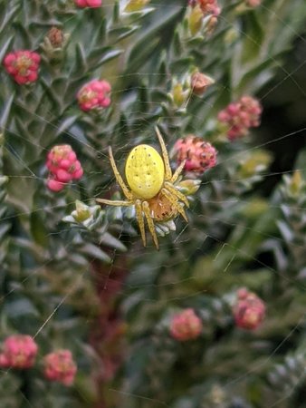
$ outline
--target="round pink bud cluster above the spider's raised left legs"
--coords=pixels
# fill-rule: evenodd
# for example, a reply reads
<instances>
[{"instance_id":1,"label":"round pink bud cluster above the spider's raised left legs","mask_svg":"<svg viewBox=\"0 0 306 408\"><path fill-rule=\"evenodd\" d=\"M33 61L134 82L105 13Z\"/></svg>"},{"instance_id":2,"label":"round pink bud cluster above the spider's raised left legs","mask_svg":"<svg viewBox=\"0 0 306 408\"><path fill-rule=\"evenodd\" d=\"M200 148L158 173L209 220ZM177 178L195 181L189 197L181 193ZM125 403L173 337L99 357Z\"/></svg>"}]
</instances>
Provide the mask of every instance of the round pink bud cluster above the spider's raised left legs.
<instances>
[{"instance_id":1,"label":"round pink bud cluster above the spider's raised left legs","mask_svg":"<svg viewBox=\"0 0 306 408\"><path fill-rule=\"evenodd\" d=\"M81 87L77 94L80 109L84 112L107 108L110 105L110 83L92 80Z\"/></svg>"}]
</instances>

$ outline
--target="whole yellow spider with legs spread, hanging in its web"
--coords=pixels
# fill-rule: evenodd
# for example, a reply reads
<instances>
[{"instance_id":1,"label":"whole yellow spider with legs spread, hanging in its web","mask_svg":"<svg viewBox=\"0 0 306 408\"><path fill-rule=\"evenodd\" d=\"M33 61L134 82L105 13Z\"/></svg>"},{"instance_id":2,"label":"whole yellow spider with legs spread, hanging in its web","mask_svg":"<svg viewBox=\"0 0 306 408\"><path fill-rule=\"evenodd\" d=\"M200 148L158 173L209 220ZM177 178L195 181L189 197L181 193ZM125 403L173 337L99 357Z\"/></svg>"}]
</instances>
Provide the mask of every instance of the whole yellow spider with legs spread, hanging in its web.
<instances>
[{"instance_id":1,"label":"whole yellow spider with legs spread, hanging in its web","mask_svg":"<svg viewBox=\"0 0 306 408\"><path fill-rule=\"evenodd\" d=\"M173 219L178 214L181 214L188 221L184 205L189 207L189 203L186 196L174 185L184 168L185 161L172 174L165 142L158 128L156 128L156 132L163 158L160 157L158 151L148 146L148 144L139 144L132 149L129 152L125 166L125 175L129 188L123 181L111 148L109 148L111 168L127 200L96 200L111 206L135 206L143 245L146 247L145 217L148 222L149 232L156 248L158 248L158 237L154 221Z\"/></svg>"}]
</instances>

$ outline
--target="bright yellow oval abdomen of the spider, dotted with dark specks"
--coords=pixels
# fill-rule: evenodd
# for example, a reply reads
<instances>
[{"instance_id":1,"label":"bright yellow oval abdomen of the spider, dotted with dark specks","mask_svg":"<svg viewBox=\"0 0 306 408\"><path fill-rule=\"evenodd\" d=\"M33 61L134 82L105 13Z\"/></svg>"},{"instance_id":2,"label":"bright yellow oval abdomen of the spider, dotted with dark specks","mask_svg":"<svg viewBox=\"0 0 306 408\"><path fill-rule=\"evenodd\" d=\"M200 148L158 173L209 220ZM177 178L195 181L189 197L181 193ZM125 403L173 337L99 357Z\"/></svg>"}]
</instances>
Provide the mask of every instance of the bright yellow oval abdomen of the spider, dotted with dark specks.
<instances>
[{"instance_id":1,"label":"bright yellow oval abdomen of the spider, dotted with dark specks","mask_svg":"<svg viewBox=\"0 0 306 408\"><path fill-rule=\"evenodd\" d=\"M152 199L164 183L164 161L154 148L147 144L140 144L130 151L125 174L129 188L136 197Z\"/></svg>"}]
</instances>

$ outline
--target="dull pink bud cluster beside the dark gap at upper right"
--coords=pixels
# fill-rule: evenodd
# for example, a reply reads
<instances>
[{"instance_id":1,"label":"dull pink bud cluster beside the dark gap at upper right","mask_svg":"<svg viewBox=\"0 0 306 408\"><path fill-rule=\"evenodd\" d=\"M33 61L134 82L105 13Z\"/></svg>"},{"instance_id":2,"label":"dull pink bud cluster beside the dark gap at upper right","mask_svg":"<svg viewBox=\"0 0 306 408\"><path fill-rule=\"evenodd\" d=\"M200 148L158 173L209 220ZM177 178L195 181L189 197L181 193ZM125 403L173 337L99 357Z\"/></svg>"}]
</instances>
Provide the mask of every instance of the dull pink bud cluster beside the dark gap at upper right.
<instances>
[{"instance_id":1,"label":"dull pink bud cluster beside the dark gap at upper right","mask_svg":"<svg viewBox=\"0 0 306 408\"><path fill-rule=\"evenodd\" d=\"M243 96L238 102L230 103L219 112L218 120L226 124L226 134L230 141L242 138L250 128L260 125L263 108L252 96Z\"/></svg>"}]
</instances>

